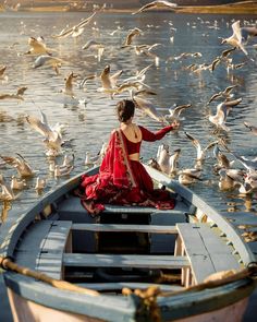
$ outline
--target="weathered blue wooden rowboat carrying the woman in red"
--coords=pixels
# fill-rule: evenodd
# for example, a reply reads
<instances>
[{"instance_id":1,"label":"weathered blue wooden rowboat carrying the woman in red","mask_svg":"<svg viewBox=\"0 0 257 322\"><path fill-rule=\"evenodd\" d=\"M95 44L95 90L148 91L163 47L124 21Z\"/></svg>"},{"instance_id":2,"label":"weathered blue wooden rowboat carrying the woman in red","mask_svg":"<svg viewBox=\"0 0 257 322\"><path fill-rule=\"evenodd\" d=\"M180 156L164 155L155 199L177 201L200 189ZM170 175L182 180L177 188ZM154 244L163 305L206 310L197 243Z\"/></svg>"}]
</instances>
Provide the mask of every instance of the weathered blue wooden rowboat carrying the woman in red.
<instances>
[{"instance_id":1,"label":"weathered blue wooden rowboat carrying the woman in red","mask_svg":"<svg viewBox=\"0 0 257 322\"><path fill-rule=\"evenodd\" d=\"M15 322L242 320L256 287L250 249L200 196L145 167L173 210L106 204L93 217L74 195L79 174L1 227Z\"/></svg>"}]
</instances>

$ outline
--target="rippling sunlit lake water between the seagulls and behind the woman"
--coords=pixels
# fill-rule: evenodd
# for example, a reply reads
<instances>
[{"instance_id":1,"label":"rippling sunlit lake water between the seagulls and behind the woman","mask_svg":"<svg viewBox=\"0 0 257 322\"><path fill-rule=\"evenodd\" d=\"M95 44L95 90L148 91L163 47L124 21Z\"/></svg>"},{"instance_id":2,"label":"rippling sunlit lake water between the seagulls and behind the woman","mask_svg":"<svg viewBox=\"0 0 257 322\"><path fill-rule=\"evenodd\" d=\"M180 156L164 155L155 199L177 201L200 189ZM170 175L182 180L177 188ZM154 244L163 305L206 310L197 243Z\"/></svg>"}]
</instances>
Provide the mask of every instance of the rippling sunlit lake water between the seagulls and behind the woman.
<instances>
[{"instance_id":1,"label":"rippling sunlit lake water between the seagulls and behind the woman","mask_svg":"<svg viewBox=\"0 0 257 322\"><path fill-rule=\"evenodd\" d=\"M45 156L42 136L36 133L25 121L26 115L39 117L42 110L50 122L65 126L65 154L75 154L75 168L72 174L85 169L86 152L96 155L102 143L109 138L110 131L118 126L114 106L120 98L127 97L125 93L114 99L105 93L97 92L100 86L98 80L90 80L85 88L74 88L75 98L61 94L64 79L70 72L81 77L99 75L107 64L111 71L123 70L121 80L136 74L136 71L152 64L147 71L146 80L157 95L149 98L166 115L168 108L174 104L192 104L192 108L183 112L182 129L179 133L167 135L162 142L170 145L170 150L181 148L180 168L193 167L196 157L195 147L184 135L184 131L207 146L218 136L223 136L231 150L247 157L256 156L256 136L246 131L243 122L256 122L257 85L256 63L247 60L243 52L236 51L233 63L245 62L241 69L227 70L223 62L219 63L213 72L203 70L191 72L189 65L211 63L221 51L229 47L220 45L220 37L232 34L231 23L234 16L230 15L175 15L172 13L147 13L131 15L128 13L98 13L95 22L89 24L76 39L66 37L53 39L51 35L59 34L66 25L77 24L87 13L1 13L0 39L1 60L7 65L7 80L0 80L0 93L15 93L17 87L27 86L24 100L0 100L0 131L1 155L22 154L47 179L44 192L54 189L63 179L58 180L49 172L49 163ZM237 19L237 17L236 17ZM255 17L241 16L242 23L254 24ZM159 57L159 65L155 65L152 57L137 55L133 49L121 49L130 29L138 27L143 31L133 43L136 45L160 44L155 53ZM115 32L113 32L115 31ZM23 56L28 51L28 37L44 37L47 46L52 49L53 56L60 57L66 63L60 67L57 74L51 67L42 65L34 69L35 56ZM90 39L105 46L101 59L97 58L94 49L83 50L82 47ZM247 47L250 57L256 58L256 50ZM200 52L189 57L182 52ZM228 117L229 133L213 134L213 128L208 121L209 112L216 112L216 106L221 100L212 102L207 106L210 97L227 86L237 85L234 98L242 97L240 105L232 108ZM160 124L148 117L136 115L137 122L158 130ZM142 156L145 162L155 157L160 142L144 143ZM230 159L232 157L228 155ZM58 163L63 156L58 157ZM256 213L256 194L240 196L237 190L221 192L218 188L218 177L212 171L216 159L208 153L204 165L203 182L192 186L197 193L210 202L221 212L253 212ZM237 165L240 166L240 165ZM10 166L1 168L1 174L8 179L14 174ZM35 178L27 182L28 188L21 193L13 205L19 210L27 208L38 198ZM3 213L2 213L3 214ZM4 212L4 214L7 214ZM5 215L4 215L5 216Z\"/></svg>"}]
</instances>

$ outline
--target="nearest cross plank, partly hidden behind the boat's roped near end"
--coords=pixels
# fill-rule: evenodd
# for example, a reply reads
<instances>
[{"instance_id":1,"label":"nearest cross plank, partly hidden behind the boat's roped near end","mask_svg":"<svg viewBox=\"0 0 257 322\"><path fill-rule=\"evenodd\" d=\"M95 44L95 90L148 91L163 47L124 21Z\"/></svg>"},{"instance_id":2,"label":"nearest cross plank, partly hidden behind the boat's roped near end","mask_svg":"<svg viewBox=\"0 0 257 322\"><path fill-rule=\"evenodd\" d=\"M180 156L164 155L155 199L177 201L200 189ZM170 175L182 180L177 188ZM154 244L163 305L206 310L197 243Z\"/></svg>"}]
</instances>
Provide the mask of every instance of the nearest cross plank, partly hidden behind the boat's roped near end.
<instances>
[{"instance_id":1,"label":"nearest cross plank, partly hidden behind the boat's roped near end","mask_svg":"<svg viewBox=\"0 0 257 322\"><path fill-rule=\"evenodd\" d=\"M146 289L152 286L152 283L135 283L135 282L115 282L115 283L76 283L76 285L85 288L90 288L95 290L112 291L122 290L122 288L127 287L130 289ZM168 284L156 284L162 291L176 291L182 290L184 287L180 285L168 285Z\"/></svg>"}]
</instances>

